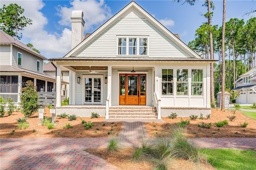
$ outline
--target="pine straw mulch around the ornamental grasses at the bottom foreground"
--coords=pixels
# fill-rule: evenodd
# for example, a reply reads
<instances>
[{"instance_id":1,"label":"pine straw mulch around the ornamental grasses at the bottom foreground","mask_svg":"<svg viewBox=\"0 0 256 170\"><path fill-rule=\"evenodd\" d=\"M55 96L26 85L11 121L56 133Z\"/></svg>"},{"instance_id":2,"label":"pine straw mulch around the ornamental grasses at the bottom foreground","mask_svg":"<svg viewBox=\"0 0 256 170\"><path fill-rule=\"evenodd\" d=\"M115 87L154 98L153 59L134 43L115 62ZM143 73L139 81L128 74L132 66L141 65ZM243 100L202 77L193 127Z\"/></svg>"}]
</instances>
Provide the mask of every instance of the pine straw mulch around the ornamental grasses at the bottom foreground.
<instances>
[{"instance_id":1,"label":"pine straw mulch around the ornamental grasses at the bottom foreground","mask_svg":"<svg viewBox=\"0 0 256 170\"><path fill-rule=\"evenodd\" d=\"M115 165L120 170L147 170L155 169L152 162L147 159L133 160L132 153L134 148L122 148L116 152L109 152L105 149L85 149L93 155L105 159L108 163ZM170 161L168 169L187 170L187 169L214 169L209 163L196 164L183 159L173 159Z\"/></svg>"}]
</instances>

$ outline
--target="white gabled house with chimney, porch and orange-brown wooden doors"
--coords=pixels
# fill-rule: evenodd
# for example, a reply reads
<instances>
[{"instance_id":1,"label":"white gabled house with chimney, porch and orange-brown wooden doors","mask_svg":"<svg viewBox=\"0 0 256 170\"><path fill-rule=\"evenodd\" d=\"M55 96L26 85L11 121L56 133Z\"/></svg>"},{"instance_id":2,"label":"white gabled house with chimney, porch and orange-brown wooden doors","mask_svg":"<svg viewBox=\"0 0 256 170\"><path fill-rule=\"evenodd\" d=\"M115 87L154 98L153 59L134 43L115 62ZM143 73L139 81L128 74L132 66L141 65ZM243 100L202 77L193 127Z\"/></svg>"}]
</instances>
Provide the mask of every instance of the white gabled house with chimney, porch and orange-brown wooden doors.
<instances>
[{"instance_id":1,"label":"white gabled house with chimney, porch and orange-brown wooden doors","mask_svg":"<svg viewBox=\"0 0 256 170\"><path fill-rule=\"evenodd\" d=\"M72 49L57 67L56 112L106 118L210 114L210 63L135 2L84 37L73 11ZM61 106L61 70L69 70L70 105Z\"/></svg>"}]
</instances>

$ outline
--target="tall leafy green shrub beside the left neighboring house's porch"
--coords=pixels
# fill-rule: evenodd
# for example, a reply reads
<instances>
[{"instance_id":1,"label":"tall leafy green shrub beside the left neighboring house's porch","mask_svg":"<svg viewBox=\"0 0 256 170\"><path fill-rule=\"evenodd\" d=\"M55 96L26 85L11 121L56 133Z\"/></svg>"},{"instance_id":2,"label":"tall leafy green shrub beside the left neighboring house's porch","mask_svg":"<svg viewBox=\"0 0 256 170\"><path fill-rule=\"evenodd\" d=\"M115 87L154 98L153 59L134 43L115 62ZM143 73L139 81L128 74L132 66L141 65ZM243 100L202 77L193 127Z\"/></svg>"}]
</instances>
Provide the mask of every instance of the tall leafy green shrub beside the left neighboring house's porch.
<instances>
[{"instance_id":1,"label":"tall leafy green shrub beside the left neighboring house's porch","mask_svg":"<svg viewBox=\"0 0 256 170\"><path fill-rule=\"evenodd\" d=\"M21 112L26 116L32 116L38 109L38 96L36 86L32 81L26 82L26 87L22 88L20 95Z\"/></svg>"}]
</instances>

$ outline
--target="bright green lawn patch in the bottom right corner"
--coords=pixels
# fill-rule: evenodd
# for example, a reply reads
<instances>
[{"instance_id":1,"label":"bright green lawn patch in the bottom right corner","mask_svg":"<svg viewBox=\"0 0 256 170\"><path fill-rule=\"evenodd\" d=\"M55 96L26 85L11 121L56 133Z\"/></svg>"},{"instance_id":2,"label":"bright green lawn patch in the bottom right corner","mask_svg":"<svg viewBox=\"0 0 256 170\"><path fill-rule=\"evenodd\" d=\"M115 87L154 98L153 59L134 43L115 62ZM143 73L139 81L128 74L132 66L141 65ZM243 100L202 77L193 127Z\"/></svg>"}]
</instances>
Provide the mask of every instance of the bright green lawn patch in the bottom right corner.
<instances>
[{"instance_id":1,"label":"bright green lawn patch in the bottom right corner","mask_svg":"<svg viewBox=\"0 0 256 170\"><path fill-rule=\"evenodd\" d=\"M256 169L256 151L238 149L202 149L207 161L220 170Z\"/></svg>"}]
</instances>

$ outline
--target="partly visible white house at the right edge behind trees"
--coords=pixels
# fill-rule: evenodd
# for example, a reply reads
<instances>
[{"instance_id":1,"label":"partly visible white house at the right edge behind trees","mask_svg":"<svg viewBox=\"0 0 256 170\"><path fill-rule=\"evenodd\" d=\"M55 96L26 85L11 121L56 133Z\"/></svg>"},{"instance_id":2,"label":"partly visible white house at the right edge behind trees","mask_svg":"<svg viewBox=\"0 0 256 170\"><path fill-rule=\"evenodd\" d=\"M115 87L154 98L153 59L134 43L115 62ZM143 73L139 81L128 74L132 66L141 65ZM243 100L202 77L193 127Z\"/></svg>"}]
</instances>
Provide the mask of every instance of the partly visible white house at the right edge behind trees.
<instances>
[{"instance_id":1,"label":"partly visible white house at the right edge behind trees","mask_svg":"<svg viewBox=\"0 0 256 170\"><path fill-rule=\"evenodd\" d=\"M256 103L256 67L242 74L235 84L236 88L233 90L239 91L239 97L236 98L236 103Z\"/></svg>"}]
</instances>

